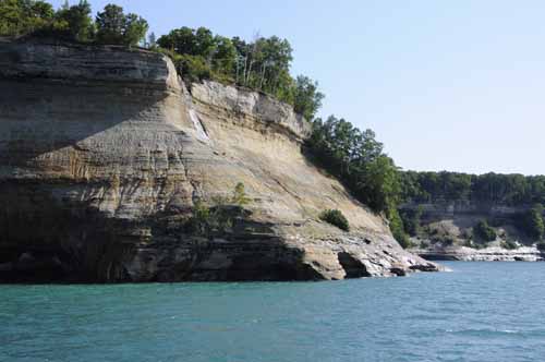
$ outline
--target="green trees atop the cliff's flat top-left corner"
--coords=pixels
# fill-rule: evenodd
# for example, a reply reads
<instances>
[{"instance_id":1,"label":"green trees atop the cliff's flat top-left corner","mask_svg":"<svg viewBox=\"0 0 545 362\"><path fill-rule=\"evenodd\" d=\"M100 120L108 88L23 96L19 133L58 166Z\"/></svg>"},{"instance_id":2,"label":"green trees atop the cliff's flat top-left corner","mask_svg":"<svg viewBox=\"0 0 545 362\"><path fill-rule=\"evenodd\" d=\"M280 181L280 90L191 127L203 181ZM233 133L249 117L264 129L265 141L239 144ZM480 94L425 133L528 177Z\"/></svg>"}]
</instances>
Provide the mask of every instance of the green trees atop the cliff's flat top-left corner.
<instances>
[{"instance_id":1,"label":"green trees atop the cliff's flat top-left corner","mask_svg":"<svg viewBox=\"0 0 545 362\"><path fill-rule=\"evenodd\" d=\"M58 39L109 45L136 46L148 29L147 22L123 8L108 4L95 19L90 4L81 0L55 10L46 1L0 0L0 36L34 35Z\"/></svg>"}]
</instances>

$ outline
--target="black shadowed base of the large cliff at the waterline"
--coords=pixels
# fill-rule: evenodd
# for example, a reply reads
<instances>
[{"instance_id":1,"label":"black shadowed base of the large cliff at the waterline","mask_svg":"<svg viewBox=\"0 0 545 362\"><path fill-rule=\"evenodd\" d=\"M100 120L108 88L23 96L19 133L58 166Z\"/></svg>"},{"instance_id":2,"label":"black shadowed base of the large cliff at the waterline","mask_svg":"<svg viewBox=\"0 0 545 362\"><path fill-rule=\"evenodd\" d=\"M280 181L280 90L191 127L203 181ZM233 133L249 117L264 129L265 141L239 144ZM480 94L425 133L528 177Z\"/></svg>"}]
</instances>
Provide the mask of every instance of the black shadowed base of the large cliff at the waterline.
<instances>
[{"instance_id":1,"label":"black shadowed base of the large cliff at the waterline","mask_svg":"<svg viewBox=\"0 0 545 362\"><path fill-rule=\"evenodd\" d=\"M53 186L0 184L0 282L130 280L128 221L85 203L59 201Z\"/></svg>"}]
</instances>

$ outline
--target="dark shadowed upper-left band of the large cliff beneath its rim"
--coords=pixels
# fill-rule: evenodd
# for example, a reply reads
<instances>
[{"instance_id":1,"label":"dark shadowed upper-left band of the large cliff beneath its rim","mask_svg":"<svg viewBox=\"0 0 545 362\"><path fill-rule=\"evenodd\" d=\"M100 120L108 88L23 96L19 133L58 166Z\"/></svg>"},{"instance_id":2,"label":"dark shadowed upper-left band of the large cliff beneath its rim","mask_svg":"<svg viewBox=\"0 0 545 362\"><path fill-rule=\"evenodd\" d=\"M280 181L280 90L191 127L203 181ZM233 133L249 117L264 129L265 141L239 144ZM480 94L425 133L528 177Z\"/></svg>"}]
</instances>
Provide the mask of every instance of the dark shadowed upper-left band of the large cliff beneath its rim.
<instances>
[{"instance_id":1,"label":"dark shadowed upper-left band of the large cliff beneath its rim","mask_svg":"<svg viewBox=\"0 0 545 362\"><path fill-rule=\"evenodd\" d=\"M126 121L165 121L160 104L168 95L142 84L0 80L0 167L24 167L64 147L81 150L82 141Z\"/></svg>"}]
</instances>

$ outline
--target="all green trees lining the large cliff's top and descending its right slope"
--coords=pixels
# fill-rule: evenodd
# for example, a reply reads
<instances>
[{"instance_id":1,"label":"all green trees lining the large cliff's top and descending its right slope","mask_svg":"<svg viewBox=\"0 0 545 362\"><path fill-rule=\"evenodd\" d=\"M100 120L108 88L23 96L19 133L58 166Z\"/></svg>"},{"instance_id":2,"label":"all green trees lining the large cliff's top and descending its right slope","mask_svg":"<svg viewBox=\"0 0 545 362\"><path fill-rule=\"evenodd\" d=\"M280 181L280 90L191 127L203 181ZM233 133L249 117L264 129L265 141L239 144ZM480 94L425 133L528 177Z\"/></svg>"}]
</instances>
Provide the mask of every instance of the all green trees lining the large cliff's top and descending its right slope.
<instances>
[{"instance_id":1,"label":"all green trees lining the large cliff's top and descending its right slope","mask_svg":"<svg viewBox=\"0 0 545 362\"><path fill-rule=\"evenodd\" d=\"M306 142L311 157L342 181L364 204L390 220L395 237L403 242L402 221L397 213L400 184L398 169L383 152L371 130L360 131L334 116L314 119L324 94L317 82L291 75L292 48L277 36L254 36L252 41L223 37L208 28L180 27L156 38L147 22L121 7L108 4L92 17L82 0L66 1L53 10L46 1L0 0L0 35L46 36L84 44L143 46L168 55L182 76L191 82L215 80L267 93L293 106L313 123Z\"/></svg>"}]
</instances>

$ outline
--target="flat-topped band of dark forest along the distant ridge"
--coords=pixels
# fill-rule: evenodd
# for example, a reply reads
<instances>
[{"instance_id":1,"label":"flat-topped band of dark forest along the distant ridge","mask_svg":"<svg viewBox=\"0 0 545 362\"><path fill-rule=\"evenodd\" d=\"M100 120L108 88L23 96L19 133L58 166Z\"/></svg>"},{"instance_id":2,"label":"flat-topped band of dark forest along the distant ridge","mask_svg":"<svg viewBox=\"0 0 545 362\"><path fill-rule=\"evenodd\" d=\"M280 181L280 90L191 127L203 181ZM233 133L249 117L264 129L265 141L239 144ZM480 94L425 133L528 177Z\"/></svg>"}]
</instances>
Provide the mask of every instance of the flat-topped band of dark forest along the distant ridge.
<instances>
[{"instance_id":1,"label":"flat-topped band of dark forest along the distant ridge","mask_svg":"<svg viewBox=\"0 0 545 362\"><path fill-rule=\"evenodd\" d=\"M400 179L402 202L474 201L506 206L545 203L545 176L404 171Z\"/></svg>"}]
</instances>

